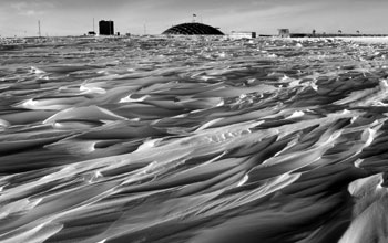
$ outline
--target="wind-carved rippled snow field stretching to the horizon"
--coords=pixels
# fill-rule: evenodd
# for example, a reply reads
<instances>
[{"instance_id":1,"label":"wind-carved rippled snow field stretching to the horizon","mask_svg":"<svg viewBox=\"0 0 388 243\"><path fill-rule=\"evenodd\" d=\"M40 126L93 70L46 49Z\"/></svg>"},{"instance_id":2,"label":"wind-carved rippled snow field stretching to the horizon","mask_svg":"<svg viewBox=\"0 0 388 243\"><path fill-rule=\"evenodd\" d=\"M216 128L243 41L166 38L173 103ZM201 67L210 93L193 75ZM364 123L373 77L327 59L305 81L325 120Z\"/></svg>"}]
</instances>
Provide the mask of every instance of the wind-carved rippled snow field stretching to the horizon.
<instances>
[{"instance_id":1,"label":"wind-carved rippled snow field stretching to the horizon","mask_svg":"<svg viewBox=\"0 0 388 243\"><path fill-rule=\"evenodd\" d=\"M387 242L388 46L0 49L0 242Z\"/></svg>"}]
</instances>

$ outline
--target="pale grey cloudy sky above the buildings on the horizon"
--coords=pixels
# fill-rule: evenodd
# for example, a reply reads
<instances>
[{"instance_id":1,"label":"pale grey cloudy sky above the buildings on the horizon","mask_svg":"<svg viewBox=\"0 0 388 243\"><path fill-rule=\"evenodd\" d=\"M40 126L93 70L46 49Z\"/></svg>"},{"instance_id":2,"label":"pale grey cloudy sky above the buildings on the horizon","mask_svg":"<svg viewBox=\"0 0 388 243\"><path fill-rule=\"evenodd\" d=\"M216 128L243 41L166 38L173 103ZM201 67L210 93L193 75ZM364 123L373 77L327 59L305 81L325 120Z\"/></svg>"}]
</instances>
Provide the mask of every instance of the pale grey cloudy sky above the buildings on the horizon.
<instances>
[{"instance_id":1,"label":"pale grey cloudy sky above the buildings on the horizon","mask_svg":"<svg viewBox=\"0 0 388 243\"><path fill-rule=\"evenodd\" d=\"M113 20L115 32L159 34L196 21L231 31L388 33L388 0L0 0L0 35L78 35Z\"/></svg>"}]
</instances>

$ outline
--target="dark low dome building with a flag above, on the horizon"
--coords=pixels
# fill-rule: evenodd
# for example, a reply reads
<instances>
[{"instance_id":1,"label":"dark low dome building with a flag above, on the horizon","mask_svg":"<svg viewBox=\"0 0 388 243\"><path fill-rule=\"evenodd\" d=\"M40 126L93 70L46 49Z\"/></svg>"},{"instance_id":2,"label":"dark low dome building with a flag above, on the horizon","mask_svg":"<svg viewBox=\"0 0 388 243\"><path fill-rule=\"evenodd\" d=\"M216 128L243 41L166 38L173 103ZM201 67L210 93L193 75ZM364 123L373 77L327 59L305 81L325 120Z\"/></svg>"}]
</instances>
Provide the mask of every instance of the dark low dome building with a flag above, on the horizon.
<instances>
[{"instance_id":1,"label":"dark low dome building with a flag above, on the horizon","mask_svg":"<svg viewBox=\"0 0 388 243\"><path fill-rule=\"evenodd\" d=\"M186 34L186 35L224 35L223 32L215 29L214 27L206 25L203 23L182 23L170 28L162 34Z\"/></svg>"}]
</instances>

